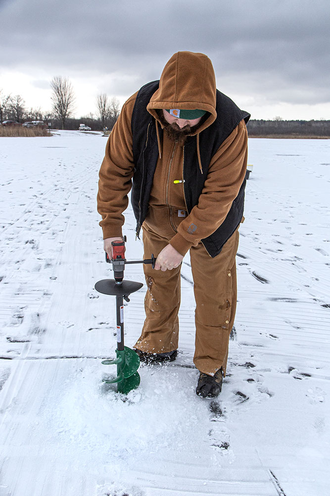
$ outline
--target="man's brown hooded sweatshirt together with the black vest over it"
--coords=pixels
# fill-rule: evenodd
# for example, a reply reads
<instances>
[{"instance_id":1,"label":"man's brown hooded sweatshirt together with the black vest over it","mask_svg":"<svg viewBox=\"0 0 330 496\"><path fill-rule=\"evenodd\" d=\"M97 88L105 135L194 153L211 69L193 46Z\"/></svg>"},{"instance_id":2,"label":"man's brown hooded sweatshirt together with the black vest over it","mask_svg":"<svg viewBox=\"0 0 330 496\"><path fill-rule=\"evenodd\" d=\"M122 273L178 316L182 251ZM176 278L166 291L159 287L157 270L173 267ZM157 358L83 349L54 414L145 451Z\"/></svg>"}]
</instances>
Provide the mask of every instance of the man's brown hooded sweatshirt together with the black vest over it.
<instances>
[{"instance_id":1,"label":"man's brown hooded sweatshirt together with the black vest over it","mask_svg":"<svg viewBox=\"0 0 330 496\"><path fill-rule=\"evenodd\" d=\"M185 146L162 132L156 110L169 108L208 112ZM171 216L181 208L188 215L173 231L171 245L185 254L203 241L211 256L219 253L243 213L248 118L216 90L212 63L205 55L175 54L159 84L145 85L125 103L109 137L97 197L103 237L121 235L133 178L138 230L144 219L149 222L148 209L165 206ZM181 184L173 186L173 178Z\"/></svg>"}]
</instances>

